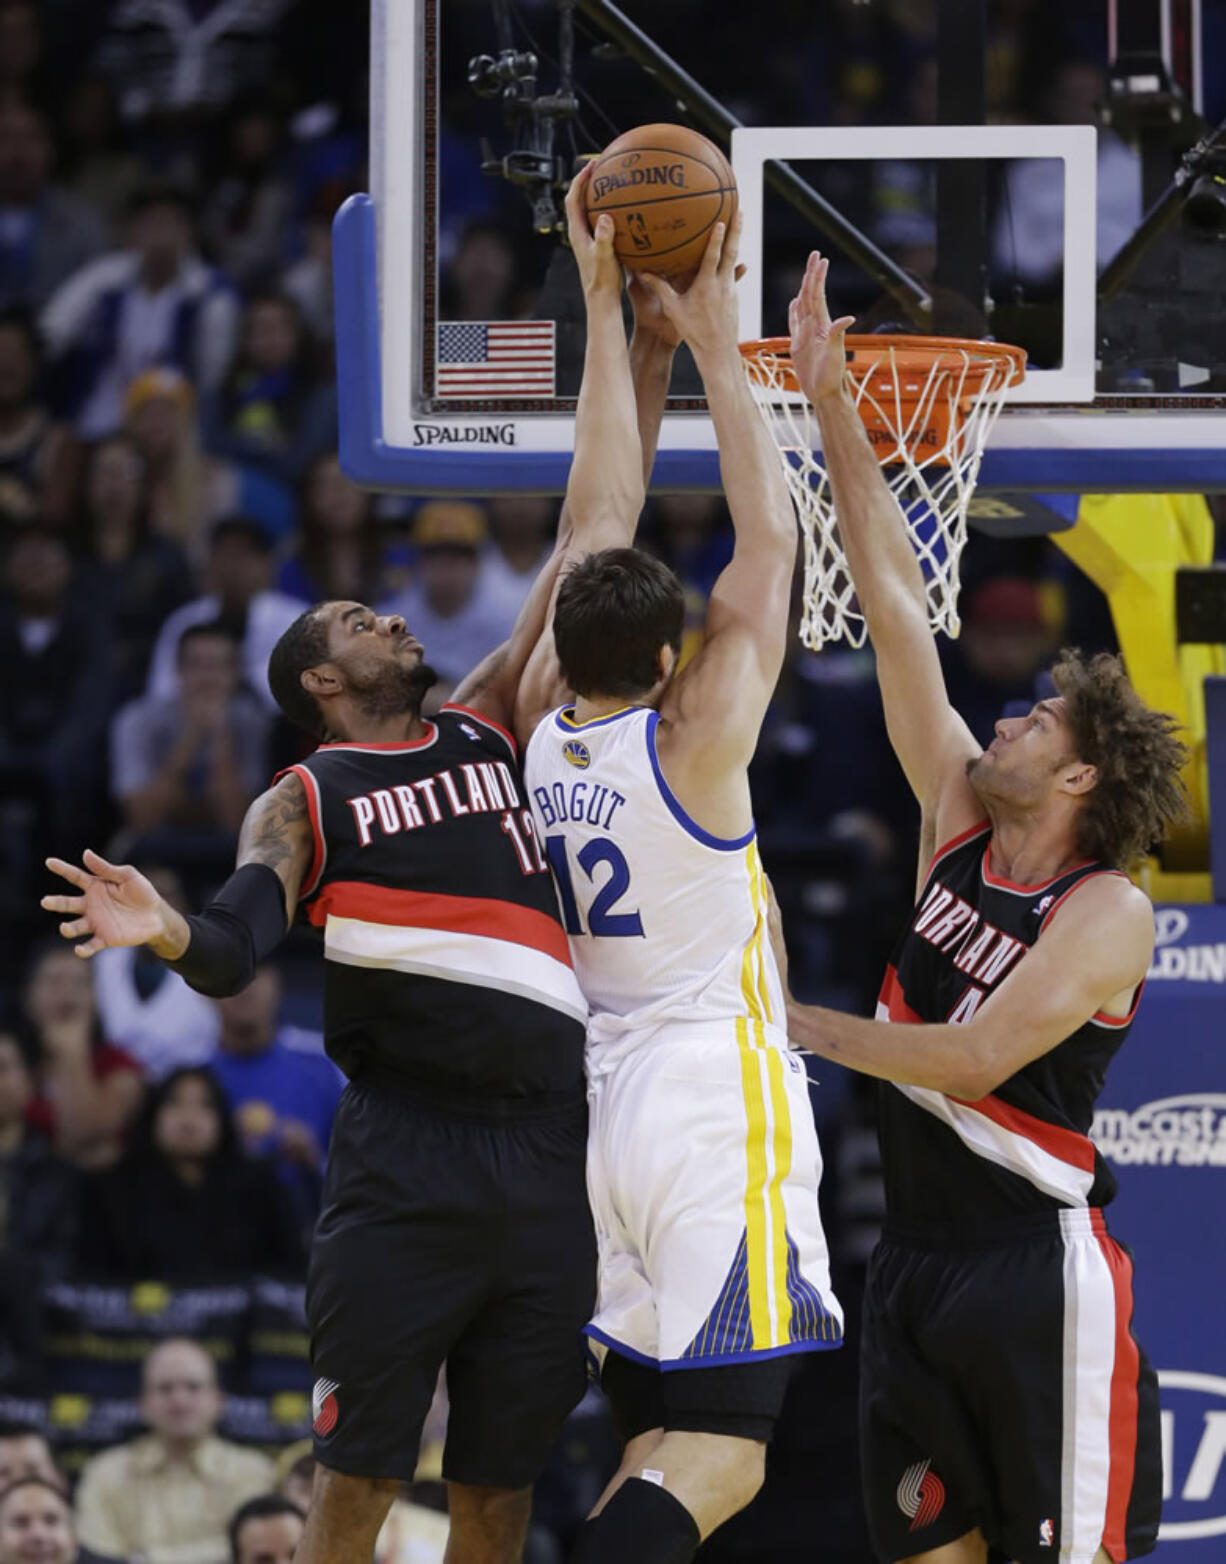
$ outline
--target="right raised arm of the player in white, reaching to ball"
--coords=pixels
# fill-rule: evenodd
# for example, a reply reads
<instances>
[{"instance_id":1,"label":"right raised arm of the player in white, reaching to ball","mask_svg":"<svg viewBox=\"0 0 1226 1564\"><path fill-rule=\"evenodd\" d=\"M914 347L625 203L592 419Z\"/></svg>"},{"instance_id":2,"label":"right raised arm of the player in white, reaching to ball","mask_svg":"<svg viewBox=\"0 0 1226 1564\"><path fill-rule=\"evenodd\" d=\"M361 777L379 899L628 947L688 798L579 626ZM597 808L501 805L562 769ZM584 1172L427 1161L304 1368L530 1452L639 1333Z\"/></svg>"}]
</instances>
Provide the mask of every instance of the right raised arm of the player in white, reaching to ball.
<instances>
[{"instance_id":1,"label":"right raised arm of the player in white, reaching to ball","mask_svg":"<svg viewBox=\"0 0 1226 1564\"><path fill-rule=\"evenodd\" d=\"M740 227L740 225L737 225ZM719 443L737 543L707 607L702 651L661 708L674 774L743 768L783 663L798 529L791 497L737 346L737 228L713 230L685 294L647 278L694 355Z\"/></svg>"}]
</instances>

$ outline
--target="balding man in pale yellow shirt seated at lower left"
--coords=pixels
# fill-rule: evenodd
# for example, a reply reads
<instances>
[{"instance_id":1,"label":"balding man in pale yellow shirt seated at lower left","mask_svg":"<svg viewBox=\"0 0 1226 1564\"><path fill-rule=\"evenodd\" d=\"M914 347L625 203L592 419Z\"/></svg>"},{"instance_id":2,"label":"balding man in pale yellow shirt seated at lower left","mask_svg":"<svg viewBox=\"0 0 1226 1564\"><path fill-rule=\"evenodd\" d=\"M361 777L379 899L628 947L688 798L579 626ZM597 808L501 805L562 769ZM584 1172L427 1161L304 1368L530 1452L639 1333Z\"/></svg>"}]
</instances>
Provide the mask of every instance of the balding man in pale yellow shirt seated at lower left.
<instances>
[{"instance_id":1,"label":"balding man in pale yellow shirt seated at lower left","mask_svg":"<svg viewBox=\"0 0 1226 1564\"><path fill-rule=\"evenodd\" d=\"M272 1462L217 1437L222 1406L206 1351L188 1340L155 1347L141 1390L150 1433L86 1464L81 1541L145 1564L225 1564L230 1517L267 1489Z\"/></svg>"}]
</instances>

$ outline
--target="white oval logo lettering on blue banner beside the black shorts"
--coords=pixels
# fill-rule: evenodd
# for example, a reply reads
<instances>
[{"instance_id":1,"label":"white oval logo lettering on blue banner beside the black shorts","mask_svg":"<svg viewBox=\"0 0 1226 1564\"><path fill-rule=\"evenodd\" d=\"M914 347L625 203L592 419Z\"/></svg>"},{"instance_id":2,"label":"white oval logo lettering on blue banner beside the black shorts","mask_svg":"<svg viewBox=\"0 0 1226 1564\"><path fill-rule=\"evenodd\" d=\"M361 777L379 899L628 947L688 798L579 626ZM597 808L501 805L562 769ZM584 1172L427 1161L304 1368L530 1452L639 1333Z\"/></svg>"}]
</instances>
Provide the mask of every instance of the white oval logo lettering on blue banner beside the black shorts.
<instances>
[{"instance_id":1,"label":"white oval logo lettering on blue banner beside the black shorts","mask_svg":"<svg viewBox=\"0 0 1226 1564\"><path fill-rule=\"evenodd\" d=\"M1163 1368L1157 1379L1165 1501L1159 1539L1226 1536L1226 1378Z\"/></svg>"}]
</instances>

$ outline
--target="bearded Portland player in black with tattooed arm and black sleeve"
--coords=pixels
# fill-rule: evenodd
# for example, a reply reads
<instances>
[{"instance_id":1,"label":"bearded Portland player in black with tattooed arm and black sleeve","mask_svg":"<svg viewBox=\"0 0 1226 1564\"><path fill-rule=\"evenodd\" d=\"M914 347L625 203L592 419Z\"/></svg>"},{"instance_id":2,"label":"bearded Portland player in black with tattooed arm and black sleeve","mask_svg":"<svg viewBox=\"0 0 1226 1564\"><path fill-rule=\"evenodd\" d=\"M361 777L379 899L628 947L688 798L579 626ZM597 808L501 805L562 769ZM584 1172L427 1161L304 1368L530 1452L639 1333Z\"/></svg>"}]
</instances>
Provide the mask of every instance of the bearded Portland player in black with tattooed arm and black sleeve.
<instances>
[{"instance_id":1,"label":"bearded Portland player in black with tattooed arm and black sleeve","mask_svg":"<svg viewBox=\"0 0 1226 1564\"><path fill-rule=\"evenodd\" d=\"M604 366L627 361L611 238L608 217L596 239L585 225L577 252L596 402ZM649 469L677 338L644 289L632 299ZM48 860L78 895L42 906L81 956L149 943L206 993L242 988L299 904L324 929L325 1042L350 1084L311 1251L319 1472L296 1564L367 1564L444 1361L447 1564L513 1564L530 1484L583 1392L586 1007L510 730L554 699L552 669L525 663L568 544L575 557L633 535L643 475L616 450L579 465L572 535L436 718L421 716L433 674L399 616L328 602L286 630L269 682L324 743L252 805L239 868L203 915L181 918L94 852L83 868Z\"/></svg>"}]
</instances>

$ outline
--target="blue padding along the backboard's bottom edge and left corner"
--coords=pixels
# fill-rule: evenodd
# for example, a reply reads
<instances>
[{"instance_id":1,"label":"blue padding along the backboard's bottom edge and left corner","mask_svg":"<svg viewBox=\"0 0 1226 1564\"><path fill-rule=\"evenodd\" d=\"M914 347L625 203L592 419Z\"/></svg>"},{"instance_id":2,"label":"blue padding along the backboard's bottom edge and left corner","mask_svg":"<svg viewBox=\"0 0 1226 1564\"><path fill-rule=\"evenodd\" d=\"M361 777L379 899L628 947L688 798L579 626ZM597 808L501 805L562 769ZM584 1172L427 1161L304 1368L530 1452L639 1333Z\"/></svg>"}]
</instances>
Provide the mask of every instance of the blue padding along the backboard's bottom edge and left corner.
<instances>
[{"instance_id":1,"label":"blue padding along the backboard's bottom edge and left corner","mask_svg":"<svg viewBox=\"0 0 1226 1564\"><path fill-rule=\"evenodd\" d=\"M339 452L349 477L364 488L405 494L560 494L571 469L569 450L405 449L383 439L372 199L350 196L332 235ZM652 488L718 490L719 457L715 450L661 450ZM1060 494L1226 490L1226 439L1203 450L987 450L979 488Z\"/></svg>"}]
</instances>

